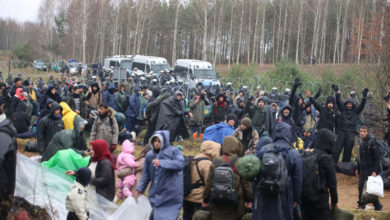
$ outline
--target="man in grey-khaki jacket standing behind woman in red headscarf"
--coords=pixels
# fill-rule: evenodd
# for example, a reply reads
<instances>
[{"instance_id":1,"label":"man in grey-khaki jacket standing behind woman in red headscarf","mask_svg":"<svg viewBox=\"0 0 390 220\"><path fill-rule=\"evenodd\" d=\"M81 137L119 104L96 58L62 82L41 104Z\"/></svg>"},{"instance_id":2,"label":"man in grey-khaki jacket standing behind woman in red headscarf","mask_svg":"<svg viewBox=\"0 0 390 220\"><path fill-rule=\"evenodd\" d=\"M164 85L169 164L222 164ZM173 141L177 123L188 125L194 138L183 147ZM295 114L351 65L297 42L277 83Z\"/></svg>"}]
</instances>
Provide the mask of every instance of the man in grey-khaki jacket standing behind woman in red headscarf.
<instances>
[{"instance_id":1,"label":"man in grey-khaki jacket standing behind woman in red headscarf","mask_svg":"<svg viewBox=\"0 0 390 220\"><path fill-rule=\"evenodd\" d=\"M95 120L91 130L90 141L104 139L107 141L110 151L113 152L118 144L119 128L112 109L106 104L100 104L99 117Z\"/></svg>"}]
</instances>

